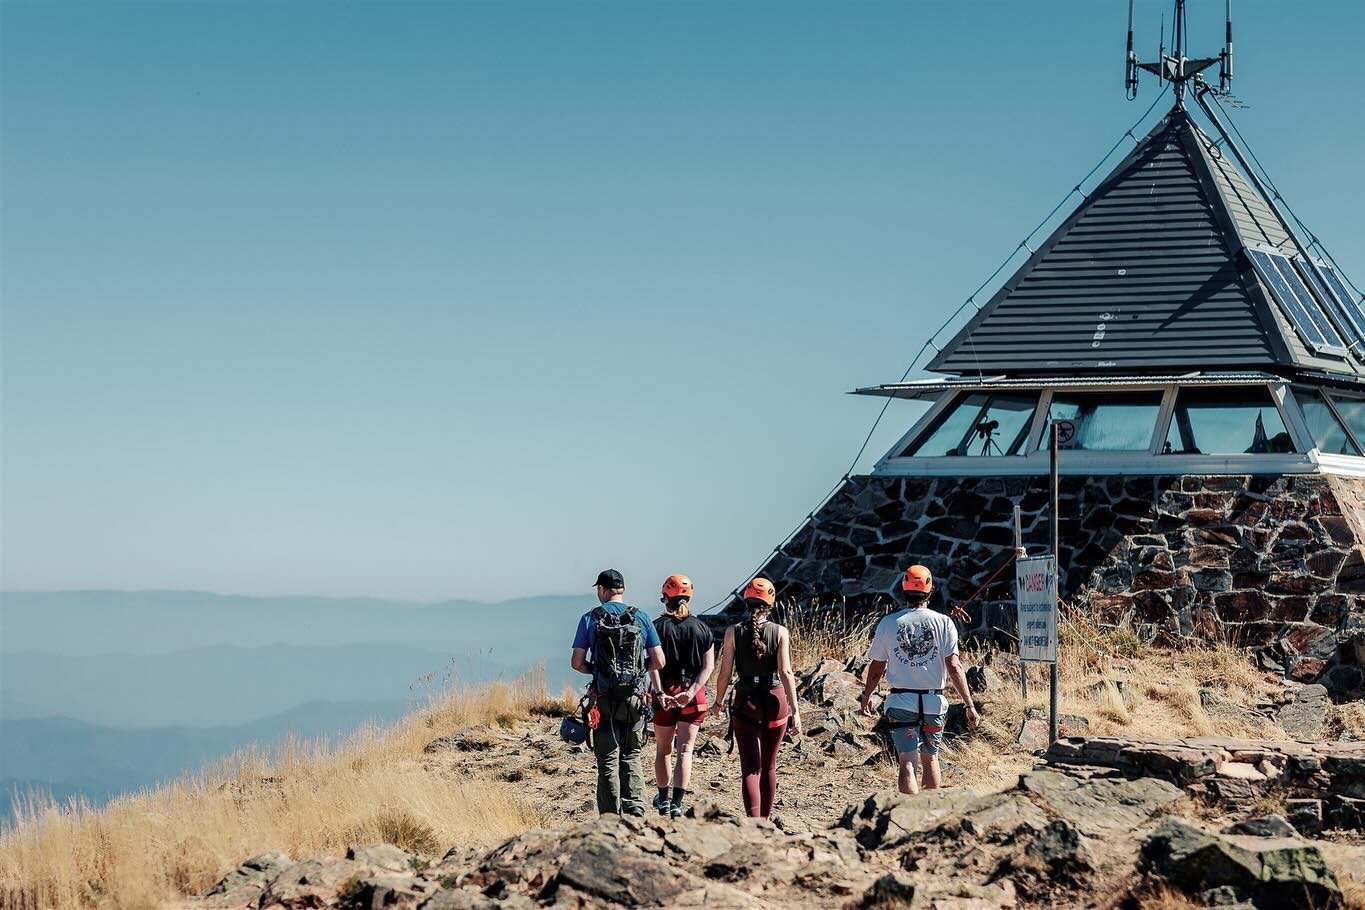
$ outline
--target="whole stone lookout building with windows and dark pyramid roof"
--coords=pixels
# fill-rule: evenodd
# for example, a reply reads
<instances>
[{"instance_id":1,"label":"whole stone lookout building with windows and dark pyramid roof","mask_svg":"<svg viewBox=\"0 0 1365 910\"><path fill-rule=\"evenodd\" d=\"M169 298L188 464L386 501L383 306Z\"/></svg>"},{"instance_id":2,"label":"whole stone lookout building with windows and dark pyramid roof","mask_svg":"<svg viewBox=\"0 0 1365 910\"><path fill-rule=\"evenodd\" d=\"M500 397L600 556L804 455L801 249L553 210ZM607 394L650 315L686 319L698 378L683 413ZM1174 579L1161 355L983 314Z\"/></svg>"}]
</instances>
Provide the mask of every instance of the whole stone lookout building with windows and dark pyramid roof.
<instances>
[{"instance_id":1,"label":"whole stone lookout building with windows and dark pyramid roof","mask_svg":"<svg viewBox=\"0 0 1365 910\"><path fill-rule=\"evenodd\" d=\"M1175 105L936 353L938 375L857 390L931 405L774 553L781 596L868 604L924 562L966 600L1010 559L1016 505L1031 551L1047 546L1059 422L1067 603L1360 688L1361 296L1185 75L1216 60L1164 61Z\"/></svg>"}]
</instances>

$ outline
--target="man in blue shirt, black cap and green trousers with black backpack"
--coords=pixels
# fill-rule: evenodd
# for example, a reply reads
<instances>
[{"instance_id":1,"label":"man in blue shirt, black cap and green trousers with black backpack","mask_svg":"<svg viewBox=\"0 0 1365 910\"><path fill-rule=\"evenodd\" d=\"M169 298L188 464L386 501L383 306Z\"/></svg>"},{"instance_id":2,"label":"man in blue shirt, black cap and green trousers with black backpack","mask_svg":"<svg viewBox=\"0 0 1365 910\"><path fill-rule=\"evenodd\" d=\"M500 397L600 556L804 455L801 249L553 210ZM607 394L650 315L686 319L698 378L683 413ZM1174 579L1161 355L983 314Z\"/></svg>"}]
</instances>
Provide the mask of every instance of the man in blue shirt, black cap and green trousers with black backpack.
<instances>
[{"instance_id":1,"label":"man in blue shirt, black cap and green trousers with black backpack","mask_svg":"<svg viewBox=\"0 0 1365 910\"><path fill-rule=\"evenodd\" d=\"M601 608L612 615L621 615L631 608L625 603L625 578L616 569L606 569L598 574L597 584L598 603ZM597 637L598 618L594 610L583 614L579 619L577 632L573 634L573 656L569 660L579 673L592 674L592 663L588 652ZM663 667L663 647L659 644L659 633L654 623L643 613L636 611L635 621L640 626L640 643L646 654L646 670L648 671L651 697L659 692L659 670ZM627 626L629 628L629 626ZM592 733L592 752L597 754L598 812L625 813L632 816L644 814L644 774L640 769L640 752L644 748L644 711L639 699L614 701L606 697L598 699L601 723Z\"/></svg>"}]
</instances>

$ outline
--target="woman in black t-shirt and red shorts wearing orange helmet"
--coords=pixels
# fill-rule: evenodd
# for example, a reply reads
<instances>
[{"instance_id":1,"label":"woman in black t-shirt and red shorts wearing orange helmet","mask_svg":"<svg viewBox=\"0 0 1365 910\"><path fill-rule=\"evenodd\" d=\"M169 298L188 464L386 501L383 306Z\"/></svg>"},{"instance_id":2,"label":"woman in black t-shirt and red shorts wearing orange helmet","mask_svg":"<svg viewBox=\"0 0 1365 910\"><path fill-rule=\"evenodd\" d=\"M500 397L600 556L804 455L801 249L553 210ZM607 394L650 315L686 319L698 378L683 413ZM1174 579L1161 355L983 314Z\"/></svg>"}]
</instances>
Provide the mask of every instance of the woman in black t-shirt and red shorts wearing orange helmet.
<instances>
[{"instance_id":1,"label":"woman in black t-shirt and red shorts wearing orange helmet","mask_svg":"<svg viewBox=\"0 0 1365 910\"><path fill-rule=\"evenodd\" d=\"M663 692L654 711L654 776L659 787L654 808L677 819L692 776L692 744L706 720L706 681L715 667L715 651L711 630L688 610L691 578L669 576L659 600L665 613L654 628L663 645Z\"/></svg>"}]
</instances>

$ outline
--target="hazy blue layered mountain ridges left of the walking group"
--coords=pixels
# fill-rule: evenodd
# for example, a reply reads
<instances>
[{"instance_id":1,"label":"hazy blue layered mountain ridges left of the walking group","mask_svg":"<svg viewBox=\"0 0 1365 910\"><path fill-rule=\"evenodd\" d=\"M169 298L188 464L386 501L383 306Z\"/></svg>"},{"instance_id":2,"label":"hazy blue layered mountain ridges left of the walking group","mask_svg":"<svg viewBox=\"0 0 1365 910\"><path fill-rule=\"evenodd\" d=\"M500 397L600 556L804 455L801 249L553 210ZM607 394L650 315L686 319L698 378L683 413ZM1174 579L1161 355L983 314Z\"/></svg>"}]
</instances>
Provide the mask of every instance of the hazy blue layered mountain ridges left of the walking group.
<instances>
[{"instance_id":1,"label":"hazy blue layered mountain ridges left of the walking group","mask_svg":"<svg viewBox=\"0 0 1365 910\"><path fill-rule=\"evenodd\" d=\"M594 603L0 593L0 812L29 789L102 802L538 663L577 684L569 644Z\"/></svg>"}]
</instances>

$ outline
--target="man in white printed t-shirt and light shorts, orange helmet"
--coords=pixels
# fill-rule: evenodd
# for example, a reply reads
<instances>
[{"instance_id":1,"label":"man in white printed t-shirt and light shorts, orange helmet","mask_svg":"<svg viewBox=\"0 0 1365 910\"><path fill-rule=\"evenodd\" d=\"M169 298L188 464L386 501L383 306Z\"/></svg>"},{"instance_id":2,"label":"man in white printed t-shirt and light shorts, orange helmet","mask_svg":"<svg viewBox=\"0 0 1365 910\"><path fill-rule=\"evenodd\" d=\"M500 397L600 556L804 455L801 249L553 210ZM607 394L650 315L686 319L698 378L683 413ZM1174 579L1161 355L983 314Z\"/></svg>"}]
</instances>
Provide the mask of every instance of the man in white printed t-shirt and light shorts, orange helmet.
<instances>
[{"instance_id":1,"label":"man in white printed t-shirt and light shorts, orange helmet","mask_svg":"<svg viewBox=\"0 0 1365 910\"><path fill-rule=\"evenodd\" d=\"M863 714L871 716L872 693L883 675L891 686L891 694L886 697L886 719L901 763L901 793L920 791L915 779L916 753L924 771L924 789L939 786L938 750L947 716L943 686L949 679L966 705L966 727L975 730L980 722L957 656L957 626L951 618L930 610L932 591L934 576L928 569L910 566L905 570L901 595L906 608L876 623L868 655L872 663L863 689Z\"/></svg>"}]
</instances>

